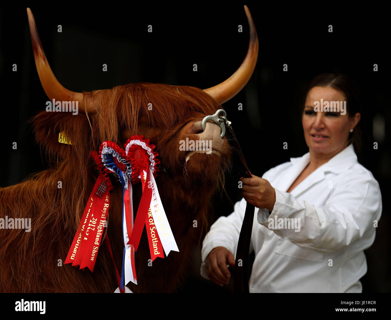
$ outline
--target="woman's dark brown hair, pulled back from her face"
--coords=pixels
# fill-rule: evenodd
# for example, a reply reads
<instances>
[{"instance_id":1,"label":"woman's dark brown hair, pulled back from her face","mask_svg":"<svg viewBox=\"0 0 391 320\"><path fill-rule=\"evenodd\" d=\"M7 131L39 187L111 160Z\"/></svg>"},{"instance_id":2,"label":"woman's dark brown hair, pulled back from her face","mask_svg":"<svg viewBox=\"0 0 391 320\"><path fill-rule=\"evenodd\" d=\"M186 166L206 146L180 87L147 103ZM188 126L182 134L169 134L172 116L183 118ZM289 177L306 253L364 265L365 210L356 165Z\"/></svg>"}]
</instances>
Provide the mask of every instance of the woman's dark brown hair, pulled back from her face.
<instances>
[{"instance_id":1,"label":"woman's dark brown hair, pulled back from her face","mask_svg":"<svg viewBox=\"0 0 391 320\"><path fill-rule=\"evenodd\" d=\"M305 101L308 92L313 87L332 87L335 90L341 91L346 96L346 111L349 117L353 117L357 112L362 114L362 105L357 84L347 75L339 72L322 73L315 76L303 89L301 96L301 115L303 115ZM349 133L349 144L352 143L355 153L359 153L361 147L361 126L357 123L353 132Z\"/></svg>"}]
</instances>

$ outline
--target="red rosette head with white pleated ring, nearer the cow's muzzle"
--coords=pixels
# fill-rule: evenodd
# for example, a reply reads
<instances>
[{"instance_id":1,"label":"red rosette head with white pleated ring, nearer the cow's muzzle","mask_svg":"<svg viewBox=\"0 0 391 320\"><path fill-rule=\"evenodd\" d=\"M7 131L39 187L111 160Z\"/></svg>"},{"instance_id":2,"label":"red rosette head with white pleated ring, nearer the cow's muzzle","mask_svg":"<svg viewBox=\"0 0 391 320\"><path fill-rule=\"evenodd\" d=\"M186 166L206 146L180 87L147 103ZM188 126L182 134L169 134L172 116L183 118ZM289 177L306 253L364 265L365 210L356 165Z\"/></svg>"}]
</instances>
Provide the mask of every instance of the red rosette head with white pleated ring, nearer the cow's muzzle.
<instances>
[{"instance_id":1,"label":"red rosette head with white pleated ring, nearer the cow's muzzle","mask_svg":"<svg viewBox=\"0 0 391 320\"><path fill-rule=\"evenodd\" d=\"M158 175L158 164L160 160L157 158L158 152L154 151L154 144L149 143L149 139L144 139L143 135L134 135L127 139L124 144L125 157L130 162L132 167L132 180L133 184L138 183L142 171L148 171L148 166L156 178Z\"/></svg>"}]
</instances>

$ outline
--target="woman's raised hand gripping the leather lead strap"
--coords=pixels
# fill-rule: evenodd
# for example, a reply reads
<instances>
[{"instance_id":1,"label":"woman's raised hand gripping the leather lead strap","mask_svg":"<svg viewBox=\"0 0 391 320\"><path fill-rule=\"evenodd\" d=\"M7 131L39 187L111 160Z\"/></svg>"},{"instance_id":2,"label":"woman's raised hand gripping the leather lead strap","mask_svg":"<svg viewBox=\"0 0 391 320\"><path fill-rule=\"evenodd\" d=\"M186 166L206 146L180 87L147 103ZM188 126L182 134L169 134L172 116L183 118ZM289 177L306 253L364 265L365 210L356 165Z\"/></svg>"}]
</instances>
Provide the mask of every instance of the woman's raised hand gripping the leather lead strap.
<instances>
[{"instance_id":1,"label":"woman's raised hand gripping the leather lead strap","mask_svg":"<svg viewBox=\"0 0 391 320\"><path fill-rule=\"evenodd\" d=\"M249 204L259 209L273 211L276 203L276 191L269 181L257 176L251 178L240 178L243 182L243 197Z\"/></svg>"}]
</instances>

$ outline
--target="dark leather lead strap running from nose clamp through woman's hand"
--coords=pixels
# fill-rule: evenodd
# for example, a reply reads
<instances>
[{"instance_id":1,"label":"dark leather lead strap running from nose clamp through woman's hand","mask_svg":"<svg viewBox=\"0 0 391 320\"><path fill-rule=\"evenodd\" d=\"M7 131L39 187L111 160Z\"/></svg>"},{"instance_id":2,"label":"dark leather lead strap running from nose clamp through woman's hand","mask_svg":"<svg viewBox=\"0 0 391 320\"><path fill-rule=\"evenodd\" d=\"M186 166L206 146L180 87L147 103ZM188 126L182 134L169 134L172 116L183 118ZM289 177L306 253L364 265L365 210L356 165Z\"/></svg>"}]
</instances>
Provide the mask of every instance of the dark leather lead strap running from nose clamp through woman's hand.
<instances>
[{"instance_id":1,"label":"dark leather lead strap running from nose clamp through woman's hand","mask_svg":"<svg viewBox=\"0 0 391 320\"><path fill-rule=\"evenodd\" d=\"M246 160L240 149L239 142L236 140L235 133L230 126L228 126L232 135L230 141L233 147L236 149L240 162L244 169L246 169L246 175L251 178L253 175L247 167ZM249 270L249 250L251 241L251 231L253 229L255 206L246 202L246 212L244 213L244 219L242 229L240 229L238 247L236 250L236 261L235 261L235 278L234 278L234 292L235 293L249 293L248 287L248 270ZM240 261L241 260L241 261Z\"/></svg>"}]
</instances>

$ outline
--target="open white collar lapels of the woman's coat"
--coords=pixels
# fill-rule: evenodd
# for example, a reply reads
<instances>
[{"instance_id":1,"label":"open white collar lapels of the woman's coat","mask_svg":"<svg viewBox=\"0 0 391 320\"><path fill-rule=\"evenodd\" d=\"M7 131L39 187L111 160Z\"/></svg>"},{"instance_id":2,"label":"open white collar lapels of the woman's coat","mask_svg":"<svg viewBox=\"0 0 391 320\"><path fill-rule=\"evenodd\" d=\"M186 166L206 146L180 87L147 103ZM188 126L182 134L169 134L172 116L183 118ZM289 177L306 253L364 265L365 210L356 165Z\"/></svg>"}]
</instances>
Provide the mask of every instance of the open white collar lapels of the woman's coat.
<instances>
[{"instance_id":1,"label":"open white collar lapels of the woman's coat","mask_svg":"<svg viewBox=\"0 0 391 320\"><path fill-rule=\"evenodd\" d=\"M305 155L298 158L291 158L292 166L288 169L282 180L273 186L278 190L286 192L292 183L296 180L299 174L307 167L310 162L310 153L307 152ZM292 190L292 196L297 196L301 192L312 187L315 183L325 179L325 172L333 172L339 174L349 169L353 164L357 163L357 156L354 152L352 144L349 144L340 153L332 157L328 162L321 165L314 172L312 172L307 178Z\"/></svg>"}]
</instances>

